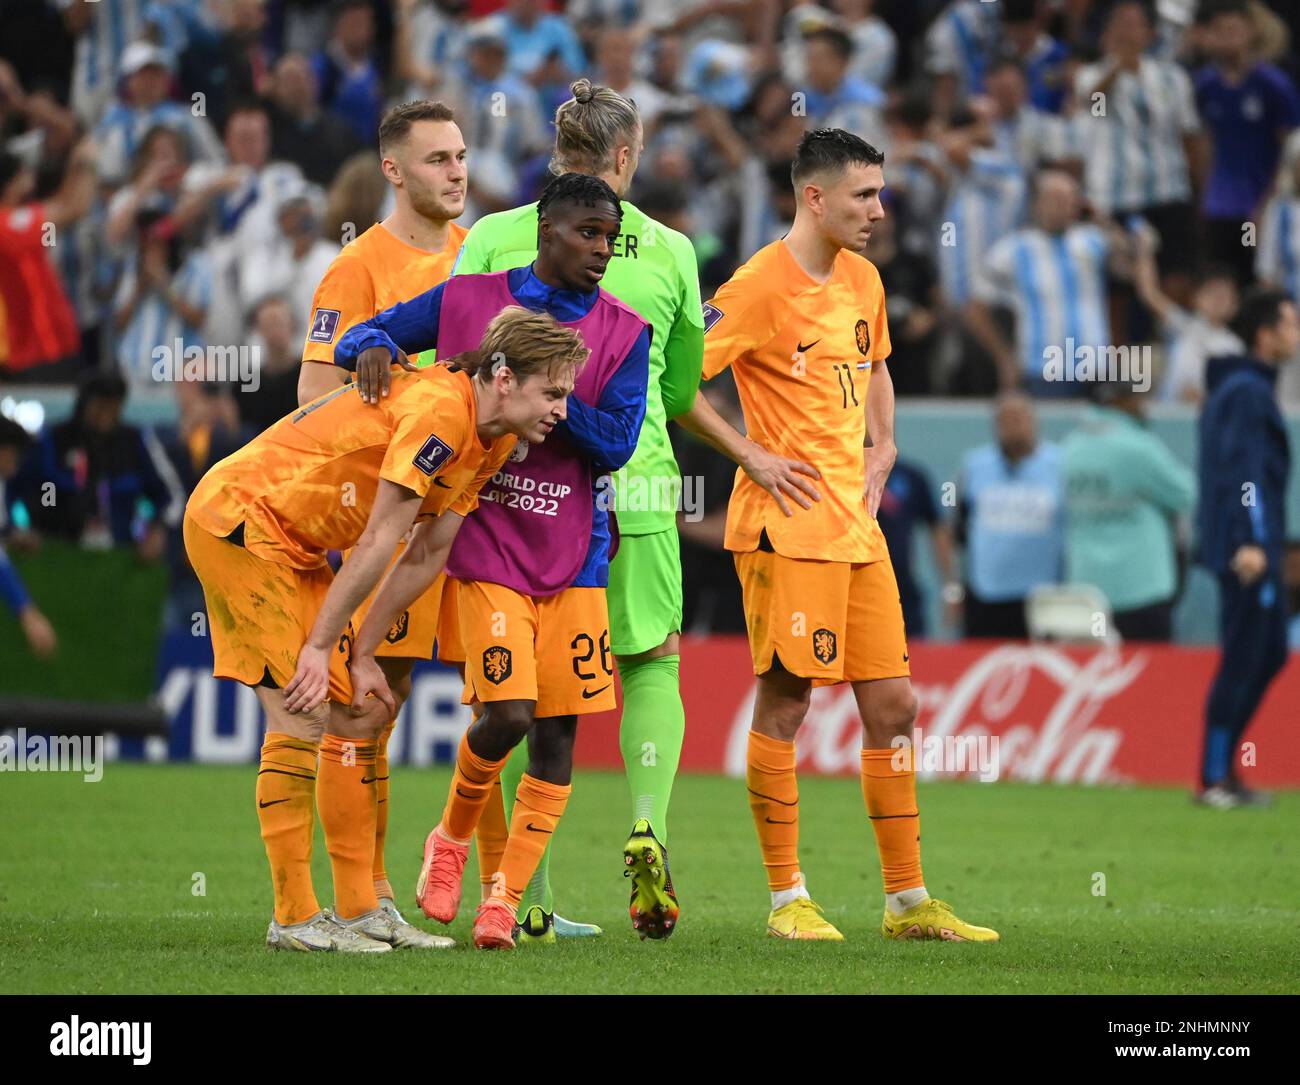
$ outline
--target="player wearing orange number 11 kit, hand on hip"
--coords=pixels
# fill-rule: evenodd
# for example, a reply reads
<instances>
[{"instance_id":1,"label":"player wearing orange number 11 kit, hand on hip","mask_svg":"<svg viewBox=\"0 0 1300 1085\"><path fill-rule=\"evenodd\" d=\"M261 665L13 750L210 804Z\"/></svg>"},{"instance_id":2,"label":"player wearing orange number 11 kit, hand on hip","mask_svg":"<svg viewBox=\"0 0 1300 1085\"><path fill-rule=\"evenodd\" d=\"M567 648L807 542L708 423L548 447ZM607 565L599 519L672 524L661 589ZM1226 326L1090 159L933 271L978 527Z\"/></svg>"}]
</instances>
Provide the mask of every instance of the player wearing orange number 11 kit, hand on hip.
<instances>
[{"instance_id":1,"label":"player wearing orange number 11 kit, hand on hip","mask_svg":"<svg viewBox=\"0 0 1300 1085\"><path fill-rule=\"evenodd\" d=\"M907 756L916 698L898 585L876 525L896 456L889 326L880 273L859 255L884 217L883 165L880 151L840 129L803 136L790 233L754 253L705 307L703 376L732 368L750 439L703 396L681 421L741 465L725 544L758 674L746 785L772 893L768 934L842 939L800 869L794 737L814 685L850 682L884 874L883 933L991 942L996 932L931 898L920 873Z\"/></svg>"}]
</instances>

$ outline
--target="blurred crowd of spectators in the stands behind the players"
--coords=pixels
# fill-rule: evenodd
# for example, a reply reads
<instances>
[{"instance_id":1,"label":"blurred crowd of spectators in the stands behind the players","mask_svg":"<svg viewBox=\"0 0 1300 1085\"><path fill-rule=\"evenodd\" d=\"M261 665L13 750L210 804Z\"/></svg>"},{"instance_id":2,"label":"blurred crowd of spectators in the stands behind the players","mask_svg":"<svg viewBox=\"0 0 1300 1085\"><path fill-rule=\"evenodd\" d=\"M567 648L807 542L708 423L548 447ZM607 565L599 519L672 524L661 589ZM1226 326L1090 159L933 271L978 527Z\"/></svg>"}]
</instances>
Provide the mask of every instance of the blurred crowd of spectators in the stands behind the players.
<instances>
[{"instance_id":1,"label":"blurred crowd of spectators in the stands behind the players","mask_svg":"<svg viewBox=\"0 0 1300 1085\"><path fill-rule=\"evenodd\" d=\"M312 292L391 209L380 117L416 97L451 104L464 131L464 226L536 198L575 77L633 99L629 199L692 239L705 298L788 230L805 130L879 146L888 214L867 255L896 391L1002 396L961 502L942 509L902 463L883 511L905 593L910 533L935 531L968 633L983 626L967 593L1017 600L1067 573L1067 452L1034 415L1082 386L1043 379L1050 347L1149 347L1149 391L1119 404L1140 417L1147 400L1196 405L1206 360L1244 352L1243 290L1300 296L1300 4L1286 0L0 0L0 398L77 387L70 420L0 426L10 547L46 533L168 552L207 466L296 405ZM159 346L252 351L256 391L233 392L234 363L173 379ZM1291 370L1279 394L1300 408ZM166 396L174 424L125 424L135 395ZM718 518L732 468L697 446L681 459L708 504L682 528L688 626L736 628ZM974 498L982 482L1005 496L1000 473L1022 461L1010 473L1034 492L1015 508L1035 538L991 556ZM1167 466L1173 518L1192 476ZM51 479L81 500L43 508ZM916 599L907 620L924 632ZM48 633L25 628L34 646Z\"/></svg>"}]
</instances>

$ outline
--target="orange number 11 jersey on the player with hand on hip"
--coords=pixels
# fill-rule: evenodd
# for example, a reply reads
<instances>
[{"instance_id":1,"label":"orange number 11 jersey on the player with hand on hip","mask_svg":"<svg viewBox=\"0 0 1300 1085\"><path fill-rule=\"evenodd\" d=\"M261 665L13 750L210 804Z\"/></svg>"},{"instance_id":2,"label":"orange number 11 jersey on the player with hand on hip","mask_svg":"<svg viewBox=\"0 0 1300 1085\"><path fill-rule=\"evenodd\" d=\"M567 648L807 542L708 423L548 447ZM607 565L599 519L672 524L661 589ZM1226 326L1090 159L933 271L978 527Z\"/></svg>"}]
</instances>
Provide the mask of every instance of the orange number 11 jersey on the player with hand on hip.
<instances>
[{"instance_id":1,"label":"orange number 11 jersey on the player with hand on hip","mask_svg":"<svg viewBox=\"0 0 1300 1085\"><path fill-rule=\"evenodd\" d=\"M728 365L750 439L820 473L820 502L775 499L744 470L727 509L725 546L757 550L762 531L786 557L878 561L884 535L867 516L863 440L871 364L889 356L875 265L846 249L819 283L784 240L755 252L705 307L705 379Z\"/></svg>"}]
</instances>

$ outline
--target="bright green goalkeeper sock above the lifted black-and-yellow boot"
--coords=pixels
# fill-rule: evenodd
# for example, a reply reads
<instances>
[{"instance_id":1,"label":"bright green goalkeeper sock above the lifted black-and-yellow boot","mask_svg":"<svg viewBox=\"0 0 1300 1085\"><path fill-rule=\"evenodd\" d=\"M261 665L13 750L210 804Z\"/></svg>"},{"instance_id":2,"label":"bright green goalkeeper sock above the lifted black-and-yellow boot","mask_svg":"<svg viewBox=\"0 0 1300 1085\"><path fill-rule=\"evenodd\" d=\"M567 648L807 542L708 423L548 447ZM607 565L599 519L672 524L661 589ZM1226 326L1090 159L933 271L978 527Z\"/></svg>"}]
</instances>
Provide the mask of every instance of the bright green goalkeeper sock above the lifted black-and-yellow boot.
<instances>
[{"instance_id":1,"label":"bright green goalkeeper sock above the lifted black-and-yellow boot","mask_svg":"<svg viewBox=\"0 0 1300 1085\"><path fill-rule=\"evenodd\" d=\"M668 799L681 760L686 712L681 707L679 656L619 663L623 722L619 747L632 793L632 819L650 819L660 843L668 842Z\"/></svg>"}]
</instances>

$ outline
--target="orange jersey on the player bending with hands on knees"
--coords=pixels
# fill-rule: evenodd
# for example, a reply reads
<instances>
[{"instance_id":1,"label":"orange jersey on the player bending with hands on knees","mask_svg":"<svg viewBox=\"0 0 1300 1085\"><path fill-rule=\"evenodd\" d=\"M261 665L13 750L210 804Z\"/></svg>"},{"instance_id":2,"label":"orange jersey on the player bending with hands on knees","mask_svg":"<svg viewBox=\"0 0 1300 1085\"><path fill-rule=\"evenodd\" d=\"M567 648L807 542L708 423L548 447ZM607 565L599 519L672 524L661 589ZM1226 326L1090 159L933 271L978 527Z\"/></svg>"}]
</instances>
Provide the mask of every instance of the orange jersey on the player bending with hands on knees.
<instances>
[{"instance_id":1,"label":"orange jersey on the player bending with hands on knees","mask_svg":"<svg viewBox=\"0 0 1300 1085\"><path fill-rule=\"evenodd\" d=\"M515 447L514 434L484 446L476 426L469 377L442 365L394 372L376 405L343 385L214 464L186 511L220 537L243 524L259 557L315 569L361 537L381 478L424 498L417 518L472 512Z\"/></svg>"}]
</instances>

